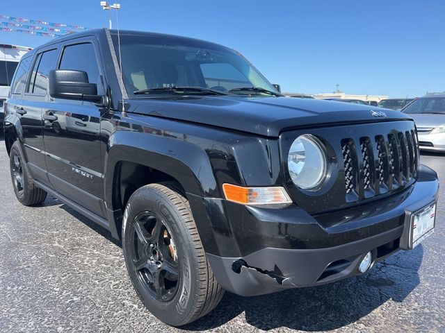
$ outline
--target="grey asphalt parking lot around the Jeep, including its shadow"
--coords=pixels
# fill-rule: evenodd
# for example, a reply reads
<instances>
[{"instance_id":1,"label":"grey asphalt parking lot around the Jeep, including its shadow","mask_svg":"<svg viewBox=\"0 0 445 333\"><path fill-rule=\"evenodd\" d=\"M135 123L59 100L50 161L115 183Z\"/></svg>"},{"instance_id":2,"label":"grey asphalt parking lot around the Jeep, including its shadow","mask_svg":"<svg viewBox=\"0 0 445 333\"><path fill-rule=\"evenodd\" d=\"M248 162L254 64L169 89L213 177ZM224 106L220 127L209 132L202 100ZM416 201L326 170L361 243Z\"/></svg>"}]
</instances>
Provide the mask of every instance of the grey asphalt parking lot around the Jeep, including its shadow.
<instances>
[{"instance_id":1,"label":"grey asphalt parking lot around the Jeep, including its shadow","mask_svg":"<svg viewBox=\"0 0 445 333\"><path fill-rule=\"evenodd\" d=\"M441 180L444 160L421 157ZM0 163L0 332L445 332L443 187L436 232L414 250L322 287L226 293L211 314L179 330L143 307L106 230L51 196L40 207L16 200L3 137Z\"/></svg>"}]
</instances>

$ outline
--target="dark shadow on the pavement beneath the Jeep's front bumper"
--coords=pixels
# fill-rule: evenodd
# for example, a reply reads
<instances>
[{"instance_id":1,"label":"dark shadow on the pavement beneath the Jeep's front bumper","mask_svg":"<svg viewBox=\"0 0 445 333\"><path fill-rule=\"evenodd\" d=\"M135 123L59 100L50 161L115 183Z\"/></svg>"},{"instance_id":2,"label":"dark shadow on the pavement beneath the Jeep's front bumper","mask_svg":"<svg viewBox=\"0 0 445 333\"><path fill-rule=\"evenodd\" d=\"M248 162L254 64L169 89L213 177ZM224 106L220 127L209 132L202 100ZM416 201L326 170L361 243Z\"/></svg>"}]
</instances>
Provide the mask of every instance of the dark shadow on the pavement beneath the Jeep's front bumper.
<instances>
[{"instance_id":1,"label":"dark shadow on the pavement beneath the Jeep's front bumper","mask_svg":"<svg viewBox=\"0 0 445 333\"><path fill-rule=\"evenodd\" d=\"M335 330L355 323L388 300L402 302L419 284L422 258L420 245L376 264L366 275L334 284L252 298L226 293L210 314L181 328L198 331L220 327L244 312L245 321L260 330Z\"/></svg>"}]
</instances>

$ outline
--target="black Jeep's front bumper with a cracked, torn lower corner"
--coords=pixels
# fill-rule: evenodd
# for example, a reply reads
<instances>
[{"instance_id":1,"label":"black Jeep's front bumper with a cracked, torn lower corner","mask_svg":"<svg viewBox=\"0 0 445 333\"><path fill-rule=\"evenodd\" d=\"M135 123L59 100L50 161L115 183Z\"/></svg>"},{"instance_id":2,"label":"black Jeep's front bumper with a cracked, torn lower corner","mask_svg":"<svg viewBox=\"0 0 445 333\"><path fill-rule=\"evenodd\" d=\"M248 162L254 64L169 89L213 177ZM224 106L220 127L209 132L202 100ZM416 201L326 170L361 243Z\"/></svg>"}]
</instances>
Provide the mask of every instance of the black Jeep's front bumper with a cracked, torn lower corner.
<instances>
[{"instance_id":1,"label":"black Jeep's front bumper with a cracked, torn lower corner","mask_svg":"<svg viewBox=\"0 0 445 333\"><path fill-rule=\"evenodd\" d=\"M435 202L438 188L435 171L422 165L409 189L347 211L310 216L296 207L226 202L234 243L220 254L239 256L207 253L207 259L218 283L241 296L334 282L359 274L369 251L376 262L407 249L411 214Z\"/></svg>"}]
</instances>

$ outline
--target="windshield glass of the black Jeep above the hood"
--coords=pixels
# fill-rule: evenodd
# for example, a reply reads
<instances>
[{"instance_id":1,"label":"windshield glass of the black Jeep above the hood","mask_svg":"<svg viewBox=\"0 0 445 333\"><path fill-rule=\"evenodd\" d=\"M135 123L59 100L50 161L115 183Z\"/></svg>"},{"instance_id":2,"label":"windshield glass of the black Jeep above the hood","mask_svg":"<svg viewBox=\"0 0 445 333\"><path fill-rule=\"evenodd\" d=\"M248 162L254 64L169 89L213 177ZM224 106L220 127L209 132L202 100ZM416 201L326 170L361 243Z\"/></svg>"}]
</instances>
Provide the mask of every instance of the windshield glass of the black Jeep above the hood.
<instances>
[{"instance_id":1,"label":"windshield glass of the black Jeep above the hood","mask_svg":"<svg viewBox=\"0 0 445 333\"><path fill-rule=\"evenodd\" d=\"M113 35L116 54L117 36ZM179 89L202 87L219 92L257 87L277 92L257 69L236 51L223 46L181 37L121 35L122 76L129 96L145 90L149 96L177 95ZM230 94L271 96L257 90L239 89ZM203 89L187 94L211 94Z\"/></svg>"}]
</instances>

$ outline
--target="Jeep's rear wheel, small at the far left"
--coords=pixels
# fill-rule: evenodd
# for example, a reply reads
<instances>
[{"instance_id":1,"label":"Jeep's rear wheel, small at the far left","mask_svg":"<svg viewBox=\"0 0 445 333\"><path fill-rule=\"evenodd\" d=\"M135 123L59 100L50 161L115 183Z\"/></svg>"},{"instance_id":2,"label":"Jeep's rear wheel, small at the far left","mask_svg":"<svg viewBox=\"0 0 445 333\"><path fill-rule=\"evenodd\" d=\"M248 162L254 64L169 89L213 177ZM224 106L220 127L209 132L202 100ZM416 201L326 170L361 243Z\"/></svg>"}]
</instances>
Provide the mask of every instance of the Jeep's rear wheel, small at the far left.
<instances>
[{"instance_id":1,"label":"Jeep's rear wheel, small at the far left","mask_svg":"<svg viewBox=\"0 0 445 333\"><path fill-rule=\"evenodd\" d=\"M25 206L33 206L42 203L47 198L47 192L35 187L34 180L24 162L19 142L14 142L9 154L11 179L17 200Z\"/></svg>"}]
</instances>

